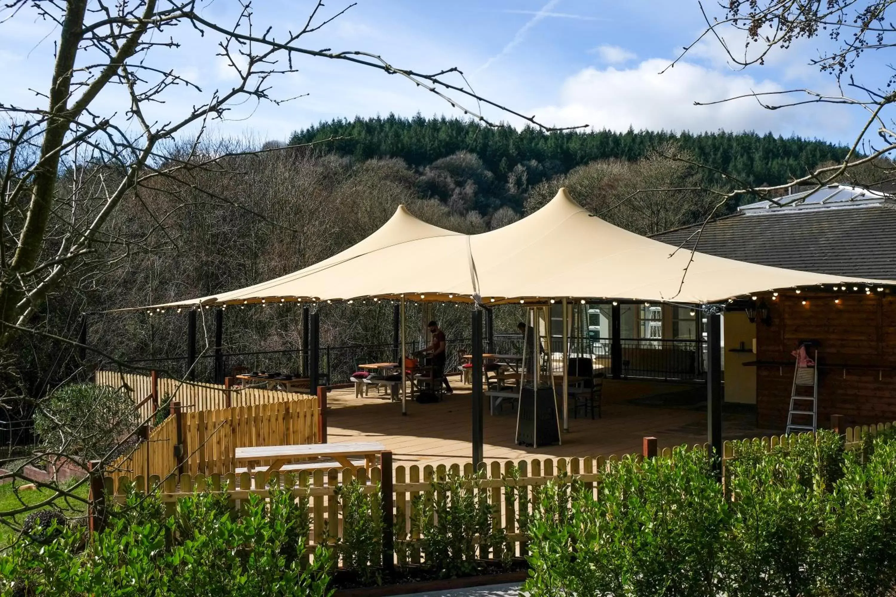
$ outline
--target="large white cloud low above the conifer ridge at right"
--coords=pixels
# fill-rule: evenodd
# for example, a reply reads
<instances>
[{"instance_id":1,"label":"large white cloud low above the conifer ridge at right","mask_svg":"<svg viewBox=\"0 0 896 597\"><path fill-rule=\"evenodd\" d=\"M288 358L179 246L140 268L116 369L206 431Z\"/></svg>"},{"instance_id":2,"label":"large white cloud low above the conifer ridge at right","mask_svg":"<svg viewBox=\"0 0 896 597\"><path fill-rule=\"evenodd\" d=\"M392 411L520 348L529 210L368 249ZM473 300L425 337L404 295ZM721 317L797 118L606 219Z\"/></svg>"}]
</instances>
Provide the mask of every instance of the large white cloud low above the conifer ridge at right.
<instances>
[{"instance_id":1,"label":"large white cloud low above the conifer ridge at right","mask_svg":"<svg viewBox=\"0 0 896 597\"><path fill-rule=\"evenodd\" d=\"M681 62L667 72L664 58L651 58L629 69L589 67L564 81L556 103L533 111L542 122L590 124L593 130L774 131L809 137L842 138L851 119L835 118L829 106L767 110L754 98L714 106L694 106L749 94L778 91L777 82L756 81L744 72L724 72Z\"/></svg>"}]
</instances>

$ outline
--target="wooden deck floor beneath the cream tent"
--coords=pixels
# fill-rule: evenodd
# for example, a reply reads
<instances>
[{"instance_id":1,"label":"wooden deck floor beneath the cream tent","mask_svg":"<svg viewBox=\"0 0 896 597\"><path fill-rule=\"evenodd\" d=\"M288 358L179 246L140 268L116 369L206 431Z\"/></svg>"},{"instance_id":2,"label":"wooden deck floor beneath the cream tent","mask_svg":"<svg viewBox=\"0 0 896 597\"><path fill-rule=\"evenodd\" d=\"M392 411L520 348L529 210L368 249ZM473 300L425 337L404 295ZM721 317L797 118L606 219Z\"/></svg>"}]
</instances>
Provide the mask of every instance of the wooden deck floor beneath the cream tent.
<instances>
[{"instance_id":1,"label":"wooden deck floor beneath the cream tent","mask_svg":"<svg viewBox=\"0 0 896 597\"><path fill-rule=\"evenodd\" d=\"M455 381L456 380L456 381ZM452 379L454 393L444 402L431 405L408 403L408 415L401 416L401 404L385 397L356 398L354 389L333 390L328 397L328 440L382 442L392 450L396 463L451 465L470 461L470 387ZM516 414L485 413L485 458L487 460L531 457L610 456L640 452L642 438L654 436L659 448L706 441L706 407L702 405L649 406L632 400L659 395L702 391L703 386L668 382L607 380L604 387L603 417L574 419L570 414L569 433L562 446L525 448L513 443ZM769 435L754 427L753 412L726 413L725 439Z\"/></svg>"}]
</instances>

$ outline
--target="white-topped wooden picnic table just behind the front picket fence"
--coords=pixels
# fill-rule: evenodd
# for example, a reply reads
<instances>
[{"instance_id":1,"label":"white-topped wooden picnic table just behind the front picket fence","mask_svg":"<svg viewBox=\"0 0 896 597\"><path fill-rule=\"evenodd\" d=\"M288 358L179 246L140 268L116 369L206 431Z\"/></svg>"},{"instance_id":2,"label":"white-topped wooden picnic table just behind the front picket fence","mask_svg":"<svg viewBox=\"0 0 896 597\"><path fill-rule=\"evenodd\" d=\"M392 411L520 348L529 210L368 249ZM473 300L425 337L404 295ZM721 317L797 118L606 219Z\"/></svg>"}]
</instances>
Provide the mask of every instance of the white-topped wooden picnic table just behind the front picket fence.
<instances>
[{"instance_id":1,"label":"white-topped wooden picnic table just behind the front picket fence","mask_svg":"<svg viewBox=\"0 0 896 597\"><path fill-rule=\"evenodd\" d=\"M376 455L382 454L385 446L378 441L342 442L334 444L299 444L295 446L259 446L257 448L237 448L234 454L237 462L246 463L246 472L252 474L261 460L272 460L268 473L280 471L280 467L299 458L331 458L340 465L354 468L349 456L364 456L369 472L376 464ZM321 463L326 465L327 463Z\"/></svg>"}]
</instances>

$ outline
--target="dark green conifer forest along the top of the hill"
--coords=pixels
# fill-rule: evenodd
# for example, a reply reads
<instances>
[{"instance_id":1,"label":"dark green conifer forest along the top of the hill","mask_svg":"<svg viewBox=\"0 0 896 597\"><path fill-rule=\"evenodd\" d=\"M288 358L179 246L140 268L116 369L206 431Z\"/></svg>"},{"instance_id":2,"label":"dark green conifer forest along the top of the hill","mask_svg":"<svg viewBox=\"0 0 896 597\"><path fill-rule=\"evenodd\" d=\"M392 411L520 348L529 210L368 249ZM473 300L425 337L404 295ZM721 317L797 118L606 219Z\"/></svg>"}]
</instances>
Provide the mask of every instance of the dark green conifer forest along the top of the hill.
<instances>
[{"instance_id":1,"label":"dark green conifer forest along the top of the hill","mask_svg":"<svg viewBox=\"0 0 896 597\"><path fill-rule=\"evenodd\" d=\"M827 141L776 137L771 133L676 134L633 130L546 133L529 127L489 128L457 118L426 119L420 115L333 120L294 132L289 141L302 143L330 137L346 139L328 143L318 151L358 160L401 158L420 170L459 151L470 152L494 176L492 188L487 191L493 197L504 195L508 185L519 190L521 175L525 185L531 187L594 160L633 161L670 143L699 163L754 185L785 183L795 175L803 175L809 166L843 158L848 150ZM705 185L726 187L729 184L709 169L695 174ZM513 198L498 201L520 208L513 204Z\"/></svg>"}]
</instances>

